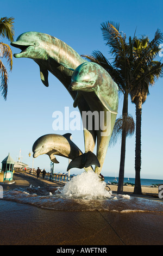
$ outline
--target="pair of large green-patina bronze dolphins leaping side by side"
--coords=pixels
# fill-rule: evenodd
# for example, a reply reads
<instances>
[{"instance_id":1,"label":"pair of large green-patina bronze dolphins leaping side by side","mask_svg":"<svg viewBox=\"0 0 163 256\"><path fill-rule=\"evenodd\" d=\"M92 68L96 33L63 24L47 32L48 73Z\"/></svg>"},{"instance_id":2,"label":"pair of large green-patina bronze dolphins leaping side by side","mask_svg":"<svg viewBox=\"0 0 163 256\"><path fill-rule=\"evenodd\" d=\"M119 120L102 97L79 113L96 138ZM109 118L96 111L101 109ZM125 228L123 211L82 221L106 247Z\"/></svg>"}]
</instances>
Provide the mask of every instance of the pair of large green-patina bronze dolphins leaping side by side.
<instances>
[{"instance_id":1,"label":"pair of large green-patina bronze dolphins leaping side by side","mask_svg":"<svg viewBox=\"0 0 163 256\"><path fill-rule=\"evenodd\" d=\"M15 42L11 42L11 45L22 50L21 53L14 54L14 57L31 58L40 66L40 77L45 86L48 86L48 71L57 77L74 99L74 106L78 106L81 115L84 111L110 111L112 132L118 106L117 87L101 66L98 65L97 69L97 66L86 62L65 42L39 32L23 33L18 36ZM78 72L78 68L80 72ZM87 80L84 78L85 89L80 86L80 88L76 86L75 88L68 88L71 84L72 75L78 86L80 80L87 76ZM106 124L105 120L104 123ZM97 158L101 165L101 167L96 166L95 168L95 172L98 174L103 166L110 136L101 136L100 130L90 130L87 124L84 127L85 153L94 150L97 137ZM92 168L90 167L90 169Z\"/></svg>"}]
</instances>

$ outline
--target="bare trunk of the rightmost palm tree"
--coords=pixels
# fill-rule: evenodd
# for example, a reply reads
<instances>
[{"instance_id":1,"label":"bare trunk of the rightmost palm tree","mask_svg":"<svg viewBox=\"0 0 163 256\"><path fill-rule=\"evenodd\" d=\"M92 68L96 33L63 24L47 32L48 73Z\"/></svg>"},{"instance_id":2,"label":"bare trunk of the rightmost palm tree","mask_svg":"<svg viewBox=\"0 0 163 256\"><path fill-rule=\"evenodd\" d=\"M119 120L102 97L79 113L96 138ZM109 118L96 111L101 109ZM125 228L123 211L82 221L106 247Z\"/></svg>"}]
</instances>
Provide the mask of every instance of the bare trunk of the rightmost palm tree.
<instances>
[{"instance_id":1,"label":"bare trunk of the rightmost palm tree","mask_svg":"<svg viewBox=\"0 0 163 256\"><path fill-rule=\"evenodd\" d=\"M141 194L141 113L142 113L142 99L141 96L136 97L136 139L135 139L135 187L134 194Z\"/></svg>"}]
</instances>

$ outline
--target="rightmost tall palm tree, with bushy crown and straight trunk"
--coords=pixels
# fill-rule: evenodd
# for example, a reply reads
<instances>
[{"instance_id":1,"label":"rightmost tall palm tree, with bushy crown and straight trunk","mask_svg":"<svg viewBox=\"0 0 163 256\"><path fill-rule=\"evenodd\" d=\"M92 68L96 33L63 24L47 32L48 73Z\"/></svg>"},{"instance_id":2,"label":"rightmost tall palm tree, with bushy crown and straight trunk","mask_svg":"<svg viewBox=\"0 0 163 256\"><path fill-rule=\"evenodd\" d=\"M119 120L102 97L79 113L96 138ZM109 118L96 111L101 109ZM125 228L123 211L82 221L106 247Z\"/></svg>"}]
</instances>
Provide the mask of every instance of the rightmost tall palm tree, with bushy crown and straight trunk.
<instances>
[{"instance_id":1,"label":"rightmost tall palm tree, with bushy crown and straight trunk","mask_svg":"<svg viewBox=\"0 0 163 256\"><path fill-rule=\"evenodd\" d=\"M155 61L163 41L163 34L159 29L155 32L154 39L149 42L148 37L135 39L133 44L134 70L131 80L133 86L130 90L131 102L136 107L136 142L135 142L135 187L134 193L141 194L140 170L141 170L141 114L142 104L149 95L149 86L163 75L163 64Z\"/></svg>"}]
</instances>

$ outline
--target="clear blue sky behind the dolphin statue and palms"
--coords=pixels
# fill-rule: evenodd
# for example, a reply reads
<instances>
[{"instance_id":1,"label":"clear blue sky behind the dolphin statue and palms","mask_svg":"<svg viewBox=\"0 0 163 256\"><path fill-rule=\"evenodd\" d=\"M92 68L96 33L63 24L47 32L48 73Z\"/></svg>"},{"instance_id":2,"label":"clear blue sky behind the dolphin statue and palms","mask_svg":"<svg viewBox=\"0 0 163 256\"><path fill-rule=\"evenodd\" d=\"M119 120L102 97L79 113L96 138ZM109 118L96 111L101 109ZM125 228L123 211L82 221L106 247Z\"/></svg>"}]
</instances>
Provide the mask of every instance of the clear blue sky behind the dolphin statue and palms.
<instances>
[{"instance_id":1,"label":"clear blue sky behind the dolphin statue and palms","mask_svg":"<svg viewBox=\"0 0 163 256\"><path fill-rule=\"evenodd\" d=\"M109 58L108 48L102 37L101 23L114 21L120 23L120 30L127 38L134 35L147 35L153 39L157 28L163 32L163 2L154 1L2 1L1 17L15 18L15 40L18 35L27 31L50 34L66 42L79 54L91 54L100 50ZM1 39L2 40L2 39ZM9 44L9 41L2 40ZM20 50L11 47L12 53ZM161 59L161 58L160 58ZM9 69L8 69L9 71ZM162 172L162 87L160 78L142 106L142 167L141 178L163 179ZM118 115L122 114L122 101ZM9 72L7 101L0 98L1 144L0 160L8 153L17 161L21 149L22 162L32 167L33 143L47 133L71 132L73 142L84 151L83 131L54 131L52 123L54 111L64 112L65 106L73 108L73 100L67 90L52 74L49 74L49 87L43 86L40 80L39 66L31 59L13 58L12 72ZM129 100L129 113L135 120L135 105ZM117 117L118 117L117 115ZM118 175L121 143L108 148L102 174ZM135 177L135 134L127 139L126 165L124 176ZM56 172L65 172L68 160L58 157ZM34 167L49 170L50 161L47 155L34 159ZM72 169L71 173L81 173Z\"/></svg>"}]
</instances>

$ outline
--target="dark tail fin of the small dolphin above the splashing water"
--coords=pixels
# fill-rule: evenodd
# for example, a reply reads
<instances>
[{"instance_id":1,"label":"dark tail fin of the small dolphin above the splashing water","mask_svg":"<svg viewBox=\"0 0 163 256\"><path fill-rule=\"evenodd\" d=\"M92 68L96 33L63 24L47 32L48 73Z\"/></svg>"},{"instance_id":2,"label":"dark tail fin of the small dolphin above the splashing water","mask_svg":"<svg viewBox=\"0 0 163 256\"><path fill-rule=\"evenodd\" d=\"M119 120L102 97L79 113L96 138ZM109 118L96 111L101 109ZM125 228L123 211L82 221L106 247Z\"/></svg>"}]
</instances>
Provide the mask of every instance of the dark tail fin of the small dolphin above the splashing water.
<instances>
[{"instance_id":1,"label":"dark tail fin of the small dolphin above the splashing water","mask_svg":"<svg viewBox=\"0 0 163 256\"><path fill-rule=\"evenodd\" d=\"M87 168L89 166L98 166L100 167L100 163L97 159L97 156L95 154L93 154L91 151L88 151L87 153L84 153L80 156L77 156L76 158L74 158L67 167L67 172L68 170L72 169L72 168Z\"/></svg>"}]
</instances>

